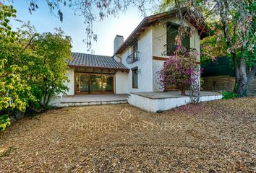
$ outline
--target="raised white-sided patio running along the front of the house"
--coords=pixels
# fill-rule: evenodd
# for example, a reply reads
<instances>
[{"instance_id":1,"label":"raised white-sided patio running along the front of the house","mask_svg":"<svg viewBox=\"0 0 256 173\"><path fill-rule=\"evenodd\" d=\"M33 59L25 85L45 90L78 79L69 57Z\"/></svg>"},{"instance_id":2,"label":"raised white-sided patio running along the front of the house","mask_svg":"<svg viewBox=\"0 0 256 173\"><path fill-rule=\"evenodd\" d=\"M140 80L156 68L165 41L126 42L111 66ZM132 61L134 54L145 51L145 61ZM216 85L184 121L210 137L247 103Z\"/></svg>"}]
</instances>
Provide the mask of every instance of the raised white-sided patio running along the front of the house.
<instances>
[{"instance_id":1,"label":"raised white-sided patio running along the front of the house","mask_svg":"<svg viewBox=\"0 0 256 173\"><path fill-rule=\"evenodd\" d=\"M218 92L200 92L200 102L221 99ZM180 92L132 92L131 94L75 94L57 96L51 100L51 106L71 107L88 105L109 105L129 103L149 112L171 110L174 107L191 103L189 92L183 96Z\"/></svg>"}]
</instances>

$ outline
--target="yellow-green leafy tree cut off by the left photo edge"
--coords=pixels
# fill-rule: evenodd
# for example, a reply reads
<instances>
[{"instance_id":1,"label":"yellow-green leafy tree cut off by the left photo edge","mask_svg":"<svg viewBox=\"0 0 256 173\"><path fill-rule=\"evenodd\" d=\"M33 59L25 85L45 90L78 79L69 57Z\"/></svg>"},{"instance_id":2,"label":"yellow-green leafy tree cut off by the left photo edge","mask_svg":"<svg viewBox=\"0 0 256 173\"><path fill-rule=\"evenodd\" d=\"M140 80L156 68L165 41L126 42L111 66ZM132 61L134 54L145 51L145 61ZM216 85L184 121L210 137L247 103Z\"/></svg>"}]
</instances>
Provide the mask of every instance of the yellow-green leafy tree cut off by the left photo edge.
<instances>
[{"instance_id":1,"label":"yellow-green leafy tree cut off by the left photo edge","mask_svg":"<svg viewBox=\"0 0 256 173\"><path fill-rule=\"evenodd\" d=\"M33 99L30 86L19 74L22 66L14 61L22 50L17 44L19 35L9 25L15 13L13 6L0 3L0 131L10 125L9 111L25 112L28 100Z\"/></svg>"}]
</instances>

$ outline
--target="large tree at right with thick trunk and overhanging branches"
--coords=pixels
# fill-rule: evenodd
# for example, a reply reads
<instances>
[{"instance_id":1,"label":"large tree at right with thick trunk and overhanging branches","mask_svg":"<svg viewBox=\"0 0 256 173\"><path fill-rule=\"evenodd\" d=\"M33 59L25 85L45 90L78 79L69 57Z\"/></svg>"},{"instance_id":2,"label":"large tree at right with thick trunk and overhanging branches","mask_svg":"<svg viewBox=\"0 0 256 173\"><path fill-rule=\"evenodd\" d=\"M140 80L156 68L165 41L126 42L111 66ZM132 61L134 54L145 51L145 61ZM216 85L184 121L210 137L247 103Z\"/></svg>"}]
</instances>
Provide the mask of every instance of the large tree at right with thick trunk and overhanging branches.
<instances>
[{"instance_id":1,"label":"large tree at right with thick trunk and overhanging branches","mask_svg":"<svg viewBox=\"0 0 256 173\"><path fill-rule=\"evenodd\" d=\"M164 5L163 5L164 4ZM251 0L169 0L161 5L162 10L187 7L189 15L197 15L197 22L204 19L211 24L214 44L226 48L236 71L235 92L239 95L247 94L248 84L256 73L255 63L255 2ZM164 7L164 8L163 8ZM202 15L203 14L203 15ZM185 19L179 10L179 18ZM182 23L182 22L181 22ZM223 47L211 48L212 50ZM209 48L209 47L208 47ZM208 53L209 51L206 51ZM215 51L216 52L216 51Z\"/></svg>"}]
</instances>

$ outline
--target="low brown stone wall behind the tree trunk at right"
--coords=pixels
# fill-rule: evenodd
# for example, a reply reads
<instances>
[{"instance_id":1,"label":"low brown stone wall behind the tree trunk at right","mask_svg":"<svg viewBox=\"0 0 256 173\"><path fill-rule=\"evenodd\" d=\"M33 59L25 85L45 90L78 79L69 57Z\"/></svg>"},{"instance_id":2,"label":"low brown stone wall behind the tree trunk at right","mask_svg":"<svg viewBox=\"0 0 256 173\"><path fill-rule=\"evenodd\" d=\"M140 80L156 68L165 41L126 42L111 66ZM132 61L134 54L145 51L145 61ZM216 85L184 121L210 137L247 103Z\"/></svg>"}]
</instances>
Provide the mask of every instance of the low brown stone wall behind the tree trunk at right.
<instances>
[{"instance_id":1,"label":"low brown stone wall behind the tree trunk at right","mask_svg":"<svg viewBox=\"0 0 256 173\"><path fill-rule=\"evenodd\" d=\"M231 76L202 77L202 89L212 92L231 92L234 89L235 78ZM248 89L249 94L256 94L256 77Z\"/></svg>"}]
</instances>

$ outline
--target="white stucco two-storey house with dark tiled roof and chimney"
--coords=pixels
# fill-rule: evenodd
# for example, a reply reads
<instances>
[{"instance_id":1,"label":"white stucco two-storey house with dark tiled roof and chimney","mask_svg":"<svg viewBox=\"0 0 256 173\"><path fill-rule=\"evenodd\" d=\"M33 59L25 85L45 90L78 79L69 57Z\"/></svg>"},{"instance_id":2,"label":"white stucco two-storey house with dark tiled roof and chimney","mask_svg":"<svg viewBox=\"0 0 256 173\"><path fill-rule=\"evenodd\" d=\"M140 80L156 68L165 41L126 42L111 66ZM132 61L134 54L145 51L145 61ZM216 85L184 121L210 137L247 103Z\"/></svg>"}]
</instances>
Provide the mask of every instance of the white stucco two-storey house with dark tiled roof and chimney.
<instances>
[{"instance_id":1,"label":"white stucco two-storey house with dark tiled roof and chimney","mask_svg":"<svg viewBox=\"0 0 256 173\"><path fill-rule=\"evenodd\" d=\"M200 52L200 39L206 36L208 27L189 16L184 24L195 32L182 44ZM174 51L178 26L175 11L156 14L145 17L126 40L116 35L113 56L72 53L67 95L161 91L157 71Z\"/></svg>"}]
</instances>

